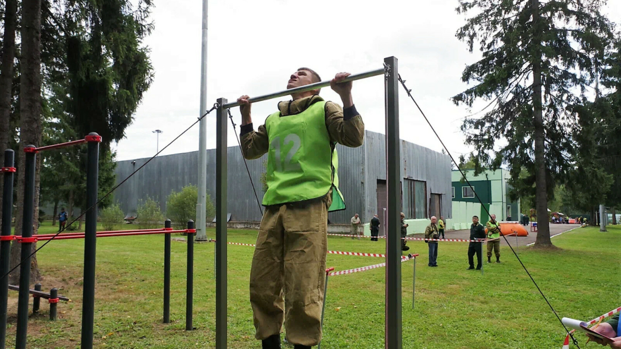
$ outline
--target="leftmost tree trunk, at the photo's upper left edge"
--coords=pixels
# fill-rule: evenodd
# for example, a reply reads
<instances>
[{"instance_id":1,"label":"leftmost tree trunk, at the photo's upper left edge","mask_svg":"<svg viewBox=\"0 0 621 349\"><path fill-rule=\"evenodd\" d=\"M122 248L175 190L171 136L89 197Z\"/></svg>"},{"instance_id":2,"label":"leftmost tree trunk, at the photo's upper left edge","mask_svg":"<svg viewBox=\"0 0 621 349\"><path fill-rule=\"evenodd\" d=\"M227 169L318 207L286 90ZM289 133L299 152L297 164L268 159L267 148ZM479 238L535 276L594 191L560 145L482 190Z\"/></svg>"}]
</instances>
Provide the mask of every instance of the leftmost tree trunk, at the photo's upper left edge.
<instances>
[{"instance_id":1,"label":"leftmost tree trunk, at the photo's upper left edge","mask_svg":"<svg viewBox=\"0 0 621 349\"><path fill-rule=\"evenodd\" d=\"M4 37L2 37L2 66L0 68L0 166L4 164L4 150L11 137L11 100L13 66L15 60L15 29L17 22L17 0L6 0L4 7ZM4 176L0 176L2 188ZM0 207L2 196L0 195Z\"/></svg>"}]
</instances>

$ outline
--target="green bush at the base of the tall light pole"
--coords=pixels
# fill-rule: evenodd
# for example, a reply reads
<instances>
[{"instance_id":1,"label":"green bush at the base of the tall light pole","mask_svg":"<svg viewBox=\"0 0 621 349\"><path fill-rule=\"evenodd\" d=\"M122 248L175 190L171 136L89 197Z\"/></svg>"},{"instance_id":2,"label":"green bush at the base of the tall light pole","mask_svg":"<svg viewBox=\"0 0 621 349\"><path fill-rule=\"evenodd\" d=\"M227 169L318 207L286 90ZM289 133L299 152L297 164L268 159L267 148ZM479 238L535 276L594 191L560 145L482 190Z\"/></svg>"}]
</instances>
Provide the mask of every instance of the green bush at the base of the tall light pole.
<instances>
[{"instance_id":1,"label":"green bush at the base of the tall light pole","mask_svg":"<svg viewBox=\"0 0 621 349\"><path fill-rule=\"evenodd\" d=\"M170 193L166 201L166 215L177 229L185 229L190 219L196 221L197 200L196 186L185 186L179 192ZM207 194L205 213L207 222L211 222L215 215L215 207L209 194Z\"/></svg>"}]
</instances>

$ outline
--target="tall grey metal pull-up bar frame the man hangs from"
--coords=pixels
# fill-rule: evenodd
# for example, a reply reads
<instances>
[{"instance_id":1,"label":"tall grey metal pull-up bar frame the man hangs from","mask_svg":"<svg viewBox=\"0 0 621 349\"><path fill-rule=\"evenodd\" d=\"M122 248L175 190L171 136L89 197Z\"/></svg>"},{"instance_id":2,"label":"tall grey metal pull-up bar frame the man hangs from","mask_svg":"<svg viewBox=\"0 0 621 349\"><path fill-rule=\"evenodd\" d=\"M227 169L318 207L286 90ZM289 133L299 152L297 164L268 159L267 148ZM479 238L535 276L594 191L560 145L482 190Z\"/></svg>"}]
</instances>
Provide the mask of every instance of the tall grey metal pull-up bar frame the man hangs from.
<instances>
[{"instance_id":1,"label":"tall grey metal pull-up bar frame the man hangs from","mask_svg":"<svg viewBox=\"0 0 621 349\"><path fill-rule=\"evenodd\" d=\"M343 82L384 75L386 101L386 181L388 182L388 222L386 241L385 347L401 349L401 181L399 141L399 73L397 58L384 58L384 68L348 76ZM266 101L292 93L330 86L330 81L300 86L263 96L250 102ZM215 152L215 348L227 348L227 118L228 109L240 106L227 99L217 101Z\"/></svg>"}]
</instances>

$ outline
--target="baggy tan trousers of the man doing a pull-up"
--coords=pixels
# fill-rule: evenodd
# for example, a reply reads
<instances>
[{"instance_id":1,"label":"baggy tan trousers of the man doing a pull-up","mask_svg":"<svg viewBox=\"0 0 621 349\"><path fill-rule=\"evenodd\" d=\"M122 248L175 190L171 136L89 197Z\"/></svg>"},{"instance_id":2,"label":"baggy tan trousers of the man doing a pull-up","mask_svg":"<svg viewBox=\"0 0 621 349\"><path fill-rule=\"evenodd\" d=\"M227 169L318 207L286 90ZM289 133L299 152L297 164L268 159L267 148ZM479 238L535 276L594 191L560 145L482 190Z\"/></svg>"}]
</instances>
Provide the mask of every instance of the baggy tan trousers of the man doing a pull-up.
<instances>
[{"instance_id":1,"label":"baggy tan trousers of the man doing a pull-up","mask_svg":"<svg viewBox=\"0 0 621 349\"><path fill-rule=\"evenodd\" d=\"M331 199L266 207L250 270L256 339L280 333L284 322L289 343L319 344Z\"/></svg>"}]
</instances>

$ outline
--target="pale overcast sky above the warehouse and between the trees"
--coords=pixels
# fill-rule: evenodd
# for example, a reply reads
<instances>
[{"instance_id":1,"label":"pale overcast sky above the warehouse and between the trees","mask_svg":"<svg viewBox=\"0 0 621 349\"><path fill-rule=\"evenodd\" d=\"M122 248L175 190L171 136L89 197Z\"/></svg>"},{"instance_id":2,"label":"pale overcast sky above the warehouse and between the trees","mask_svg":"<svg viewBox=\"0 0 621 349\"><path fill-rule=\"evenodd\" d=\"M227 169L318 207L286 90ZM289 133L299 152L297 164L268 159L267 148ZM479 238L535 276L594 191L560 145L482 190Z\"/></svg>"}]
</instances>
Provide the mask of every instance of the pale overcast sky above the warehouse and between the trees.
<instances>
[{"instance_id":1,"label":"pale overcast sky above the warehouse and between the trees","mask_svg":"<svg viewBox=\"0 0 621 349\"><path fill-rule=\"evenodd\" d=\"M611 0L609 19L621 21L621 1ZM210 0L207 59L207 101L232 101L242 94L257 96L286 88L289 75L301 66L322 79L339 71L361 73L399 59L399 73L454 156L467 153L460 132L465 107L450 97L466 89L461 72L479 57L455 37L465 17L455 12L456 0L363 2L349 0ZM155 1L155 30L145 43L151 49L155 79L135 114L126 138L117 145L117 159L145 158L183 132L201 114L201 0ZM324 99L339 102L324 88ZM276 102L253 104L256 127L276 111ZM367 130L384 133L384 84L381 76L353 83L353 100ZM401 138L440 151L442 145L414 103L401 90ZM232 109L240 124L239 109ZM215 112L207 116L207 147L215 147ZM239 130L239 129L237 129ZM198 149L196 125L162 154ZM229 124L229 146L237 145Z\"/></svg>"}]
</instances>

